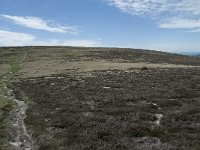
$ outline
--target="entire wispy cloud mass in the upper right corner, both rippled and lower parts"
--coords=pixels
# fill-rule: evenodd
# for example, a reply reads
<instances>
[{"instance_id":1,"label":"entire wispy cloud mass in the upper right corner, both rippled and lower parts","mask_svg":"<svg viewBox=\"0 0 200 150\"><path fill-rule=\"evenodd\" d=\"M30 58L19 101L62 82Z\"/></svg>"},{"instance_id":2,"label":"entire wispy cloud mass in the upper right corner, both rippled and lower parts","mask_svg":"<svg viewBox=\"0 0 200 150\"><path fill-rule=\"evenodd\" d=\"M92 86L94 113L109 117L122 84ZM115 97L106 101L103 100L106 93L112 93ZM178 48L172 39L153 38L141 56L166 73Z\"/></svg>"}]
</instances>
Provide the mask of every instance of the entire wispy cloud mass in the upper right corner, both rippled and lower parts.
<instances>
[{"instance_id":1,"label":"entire wispy cloud mass in the upper right corner, both rippled and lower parts","mask_svg":"<svg viewBox=\"0 0 200 150\"><path fill-rule=\"evenodd\" d=\"M120 10L147 16L160 28L200 30L200 1L197 0L104 0Z\"/></svg>"}]
</instances>

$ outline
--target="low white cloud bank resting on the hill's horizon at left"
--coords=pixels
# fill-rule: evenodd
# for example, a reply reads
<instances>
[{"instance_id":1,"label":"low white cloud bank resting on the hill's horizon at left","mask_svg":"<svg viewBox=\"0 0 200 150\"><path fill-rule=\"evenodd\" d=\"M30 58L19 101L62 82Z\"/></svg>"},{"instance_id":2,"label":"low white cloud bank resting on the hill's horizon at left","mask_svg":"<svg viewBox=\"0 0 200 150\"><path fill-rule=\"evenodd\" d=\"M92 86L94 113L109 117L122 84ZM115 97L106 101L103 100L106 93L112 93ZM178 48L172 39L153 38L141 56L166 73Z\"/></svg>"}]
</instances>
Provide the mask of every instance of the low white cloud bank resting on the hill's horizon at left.
<instances>
[{"instance_id":1,"label":"low white cloud bank resting on the hill's horizon at left","mask_svg":"<svg viewBox=\"0 0 200 150\"><path fill-rule=\"evenodd\" d=\"M94 40L39 40L31 34L0 30L0 46L100 46L101 43Z\"/></svg>"}]
</instances>

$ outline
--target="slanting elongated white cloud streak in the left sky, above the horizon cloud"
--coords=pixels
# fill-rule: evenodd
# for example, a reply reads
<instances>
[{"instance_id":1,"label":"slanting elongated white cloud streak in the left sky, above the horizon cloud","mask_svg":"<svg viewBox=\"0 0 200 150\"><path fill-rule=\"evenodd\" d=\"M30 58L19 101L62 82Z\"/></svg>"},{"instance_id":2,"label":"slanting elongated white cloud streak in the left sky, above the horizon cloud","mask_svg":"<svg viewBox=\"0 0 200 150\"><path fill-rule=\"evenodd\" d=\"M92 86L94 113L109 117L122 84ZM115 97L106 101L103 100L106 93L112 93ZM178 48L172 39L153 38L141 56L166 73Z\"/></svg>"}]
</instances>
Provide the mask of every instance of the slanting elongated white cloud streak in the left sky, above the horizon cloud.
<instances>
[{"instance_id":1,"label":"slanting elongated white cloud streak in the left sky, above the horizon cloud","mask_svg":"<svg viewBox=\"0 0 200 150\"><path fill-rule=\"evenodd\" d=\"M11 15L3 15L3 14L1 14L0 16L13 21L15 24L32 28L32 29L45 30L45 31L57 32L57 33L78 33L78 29L76 27L61 26L58 24L55 25L39 17L11 16Z\"/></svg>"}]
</instances>

